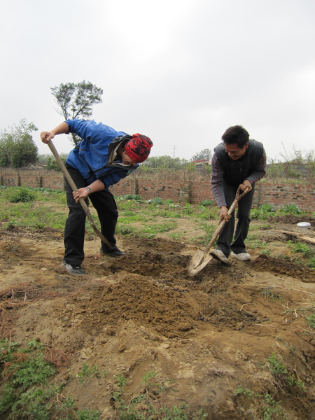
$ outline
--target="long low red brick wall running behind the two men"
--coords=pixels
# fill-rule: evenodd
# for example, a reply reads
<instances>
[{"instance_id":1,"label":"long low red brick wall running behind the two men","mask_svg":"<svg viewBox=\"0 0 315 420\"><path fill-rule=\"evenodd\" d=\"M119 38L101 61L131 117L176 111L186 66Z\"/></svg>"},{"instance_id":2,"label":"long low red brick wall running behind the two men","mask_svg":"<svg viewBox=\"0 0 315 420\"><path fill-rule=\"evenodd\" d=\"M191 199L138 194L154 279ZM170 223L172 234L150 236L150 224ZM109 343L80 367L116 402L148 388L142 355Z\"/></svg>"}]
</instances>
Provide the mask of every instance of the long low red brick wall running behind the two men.
<instances>
[{"instance_id":1,"label":"long low red brick wall running behind the two men","mask_svg":"<svg viewBox=\"0 0 315 420\"><path fill-rule=\"evenodd\" d=\"M64 190L62 174L45 169L0 168L1 186L43 187L52 190ZM160 197L162 200L197 204L204 200L214 200L209 181L174 181L134 179L132 176L122 179L111 187L116 197L121 195L140 195L143 200ZM266 180L257 183L253 207L272 204L281 209L286 204L295 204L304 211L315 211L315 186L313 184L274 184Z\"/></svg>"}]
</instances>

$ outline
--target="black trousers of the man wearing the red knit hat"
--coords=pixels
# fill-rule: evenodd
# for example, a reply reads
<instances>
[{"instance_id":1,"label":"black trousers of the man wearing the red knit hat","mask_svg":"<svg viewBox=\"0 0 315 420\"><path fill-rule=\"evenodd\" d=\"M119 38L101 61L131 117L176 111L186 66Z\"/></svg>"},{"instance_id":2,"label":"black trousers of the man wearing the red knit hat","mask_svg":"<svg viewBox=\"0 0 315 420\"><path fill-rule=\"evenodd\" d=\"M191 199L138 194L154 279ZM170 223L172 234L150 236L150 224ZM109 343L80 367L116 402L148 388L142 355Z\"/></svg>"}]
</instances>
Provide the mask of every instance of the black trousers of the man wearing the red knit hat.
<instances>
[{"instance_id":1,"label":"black trousers of the man wearing the red knit hat","mask_svg":"<svg viewBox=\"0 0 315 420\"><path fill-rule=\"evenodd\" d=\"M87 182L81 176L77 169L66 165L71 178L76 184L77 188L87 186ZM66 188L66 202L69 207L69 214L66 218L66 225L64 228L64 261L68 264L78 264L84 260L84 237L85 237L85 219L86 214L80 203L76 203L73 199L72 188L65 179ZM94 209L97 211L99 221L101 223L101 232L109 241L111 246L116 246L115 230L118 220L118 210L113 195L109 189L92 193L89 199L85 202L88 205L91 200ZM101 241L102 248L105 251L109 247Z\"/></svg>"}]
</instances>

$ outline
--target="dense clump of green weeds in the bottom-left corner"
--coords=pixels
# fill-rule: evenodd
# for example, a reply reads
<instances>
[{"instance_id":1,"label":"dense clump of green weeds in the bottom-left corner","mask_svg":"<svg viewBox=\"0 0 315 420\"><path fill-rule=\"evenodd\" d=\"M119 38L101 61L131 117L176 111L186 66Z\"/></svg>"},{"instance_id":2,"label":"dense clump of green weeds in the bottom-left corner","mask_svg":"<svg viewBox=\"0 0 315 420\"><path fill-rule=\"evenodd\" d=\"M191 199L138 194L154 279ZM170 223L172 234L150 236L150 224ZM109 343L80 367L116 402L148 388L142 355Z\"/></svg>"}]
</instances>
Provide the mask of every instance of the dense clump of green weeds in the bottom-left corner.
<instances>
[{"instance_id":1,"label":"dense clump of green weeds in the bottom-left corner","mask_svg":"<svg viewBox=\"0 0 315 420\"><path fill-rule=\"evenodd\" d=\"M20 342L0 340L0 367L4 378L0 416L12 420L99 420L101 412L93 409L75 411L75 399L60 394L64 384L52 384L57 367L45 358L44 353L45 346L36 340L28 342L24 349ZM85 367L83 372L85 376L98 374L97 367Z\"/></svg>"}]
</instances>

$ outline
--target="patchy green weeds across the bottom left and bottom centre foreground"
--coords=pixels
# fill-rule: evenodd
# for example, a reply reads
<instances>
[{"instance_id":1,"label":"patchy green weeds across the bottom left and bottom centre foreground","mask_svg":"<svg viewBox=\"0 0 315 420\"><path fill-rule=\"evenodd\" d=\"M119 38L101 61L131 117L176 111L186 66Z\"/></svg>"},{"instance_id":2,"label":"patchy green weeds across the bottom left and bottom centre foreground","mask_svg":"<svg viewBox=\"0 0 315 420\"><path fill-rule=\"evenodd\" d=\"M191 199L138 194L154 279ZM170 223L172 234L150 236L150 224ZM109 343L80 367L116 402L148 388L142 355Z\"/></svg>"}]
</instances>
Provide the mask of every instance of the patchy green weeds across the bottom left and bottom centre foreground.
<instances>
[{"instance_id":1,"label":"patchy green weeds across the bottom left and bottom centre foreground","mask_svg":"<svg viewBox=\"0 0 315 420\"><path fill-rule=\"evenodd\" d=\"M102 412L97 409L77 409L76 399L62 395L66 385L55 384L57 365L48 359L52 353L36 340L27 343L25 348L20 342L0 340L0 372L4 386L0 397L0 416L13 420L67 419L99 420ZM106 377L107 372L104 372ZM120 420L202 420L207 414L202 409L190 412L183 402L180 407L162 405L163 393L175 391L172 381L157 379L155 372L147 372L141 384L130 393L125 391L128 379L123 374L114 377L111 402L115 408L115 418ZM86 386L87 379L99 379L96 365L90 367L83 363L82 368L69 381L78 381L77 386ZM2 418L2 417L1 417Z\"/></svg>"}]
</instances>

